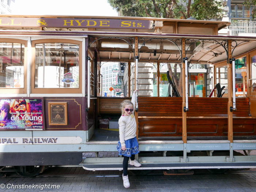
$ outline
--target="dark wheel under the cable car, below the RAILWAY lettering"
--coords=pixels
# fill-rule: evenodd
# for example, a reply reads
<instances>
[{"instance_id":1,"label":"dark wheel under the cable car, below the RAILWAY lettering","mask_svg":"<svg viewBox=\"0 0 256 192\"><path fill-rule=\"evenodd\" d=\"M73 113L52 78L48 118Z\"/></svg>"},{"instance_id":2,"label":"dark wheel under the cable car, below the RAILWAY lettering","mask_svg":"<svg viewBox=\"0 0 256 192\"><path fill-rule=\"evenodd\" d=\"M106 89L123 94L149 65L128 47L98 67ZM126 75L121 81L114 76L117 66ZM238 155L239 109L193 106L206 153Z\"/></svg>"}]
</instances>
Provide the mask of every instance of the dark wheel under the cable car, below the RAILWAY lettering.
<instances>
[{"instance_id":1,"label":"dark wheel under the cable car, below the RAILWAY lettering","mask_svg":"<svg viewBox=\"0 0 256 192\"><path fill-rule=\"evenodd\" d=\"M14 169L20 170L16 171L16 173L22 177L37 176L41 172L42 168L43 166L14 166Z\"/></svg>"}]
</instances>

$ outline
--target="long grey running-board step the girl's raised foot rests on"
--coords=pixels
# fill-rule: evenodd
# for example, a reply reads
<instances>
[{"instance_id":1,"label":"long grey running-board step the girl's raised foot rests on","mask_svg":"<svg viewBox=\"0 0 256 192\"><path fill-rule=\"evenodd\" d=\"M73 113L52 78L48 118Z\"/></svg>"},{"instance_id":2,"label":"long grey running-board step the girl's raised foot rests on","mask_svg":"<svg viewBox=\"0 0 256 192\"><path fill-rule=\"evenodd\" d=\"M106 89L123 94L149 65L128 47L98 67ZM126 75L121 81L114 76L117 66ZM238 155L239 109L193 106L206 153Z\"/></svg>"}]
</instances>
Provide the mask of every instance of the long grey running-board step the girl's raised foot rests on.
<instances>
[{"instance_id":1,"label":"long grey running-board step the girl's raised foot rests on","mask_svg":"<svg viewBox=\"0 0 256 192\"><path fill-rule=\"evenodd\" d=\"M129 170L142 169L221 169L221 168L256 168L253 156L234 156L237 162L227 162L225 156L188 157L188 162L181 162L180 157L139 157L140 167L128 164ZM89 157L84 160L86 170L123 170L123 157Z\"/></svg>"}]
</instances>

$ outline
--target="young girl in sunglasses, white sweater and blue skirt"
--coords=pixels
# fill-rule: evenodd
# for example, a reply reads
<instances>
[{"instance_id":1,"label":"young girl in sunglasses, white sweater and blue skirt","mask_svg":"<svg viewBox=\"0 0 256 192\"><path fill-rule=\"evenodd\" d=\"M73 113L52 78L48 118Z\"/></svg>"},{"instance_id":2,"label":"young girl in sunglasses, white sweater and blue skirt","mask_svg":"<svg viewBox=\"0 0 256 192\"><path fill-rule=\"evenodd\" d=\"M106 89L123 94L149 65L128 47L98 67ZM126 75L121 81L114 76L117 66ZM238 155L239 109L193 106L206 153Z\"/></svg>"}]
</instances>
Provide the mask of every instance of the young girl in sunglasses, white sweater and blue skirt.
<instances>
[{"instance_id":1,"label":"young girl in sunglasses, white sweater and blue skirt","mask_svg":"<svg viewBox=\"0 0 256 192\"><path fill-rule=\"evenodd\" d=\"M125 188L130 187L127 175L129 157L131 157L130 165L134 165L136 167L141 166L141 164L135 159L135 154L140 152L139 143L136 138L137 125L133 112L135 108L136 91L138 90L134 91L132 101L124 100L121 103L122 116L118 121L120 141L117 144L117 150L119 155L124 155L123 181Z\"/></svg>"}]
</instances>

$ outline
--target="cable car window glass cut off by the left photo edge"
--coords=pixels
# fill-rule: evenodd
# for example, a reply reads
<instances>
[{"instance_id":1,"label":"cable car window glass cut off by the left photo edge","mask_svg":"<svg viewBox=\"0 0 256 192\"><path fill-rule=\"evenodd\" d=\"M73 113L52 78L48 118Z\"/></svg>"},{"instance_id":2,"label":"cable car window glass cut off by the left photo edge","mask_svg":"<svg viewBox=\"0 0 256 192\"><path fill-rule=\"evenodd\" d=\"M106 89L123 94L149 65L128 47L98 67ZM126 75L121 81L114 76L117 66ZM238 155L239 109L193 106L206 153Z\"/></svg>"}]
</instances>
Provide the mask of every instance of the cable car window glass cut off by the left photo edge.
<instances>
[{"instance_id":1,"label":"cable car window glass cut off by the left photo edge","mask_svg":"<svg viewBox=\"0 0 256 192\"><path fill-rule=\"evenodd\" d=\"M0 88L24 88L24 50L24 44L0 43Z\"/></svg>"}]
</instances>

